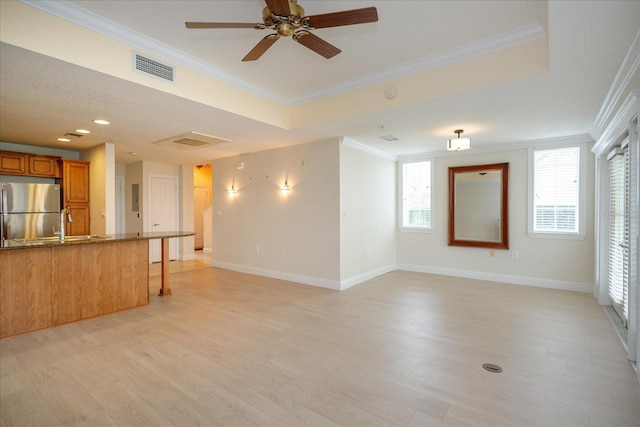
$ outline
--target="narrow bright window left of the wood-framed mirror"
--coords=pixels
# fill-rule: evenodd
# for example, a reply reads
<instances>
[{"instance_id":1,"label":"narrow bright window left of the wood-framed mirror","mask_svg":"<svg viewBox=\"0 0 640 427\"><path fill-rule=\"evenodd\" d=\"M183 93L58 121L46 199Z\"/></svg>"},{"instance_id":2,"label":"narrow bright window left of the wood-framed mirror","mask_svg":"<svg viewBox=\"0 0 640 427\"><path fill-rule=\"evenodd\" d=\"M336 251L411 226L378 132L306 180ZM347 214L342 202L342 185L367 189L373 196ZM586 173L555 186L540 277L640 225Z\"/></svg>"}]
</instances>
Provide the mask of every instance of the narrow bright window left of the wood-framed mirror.
<instances>
[{"instance_id":1,"label":"narrow bright window left of the wood-framed mirror","mask_svg":"<svg viewBox=\"0 0 640 427\"><path fill-rule=\"evenodd\" d=\"M400 163L402 183L400 227L432 228L431 160L408 160Z\"/></svg>"}]
</instances>

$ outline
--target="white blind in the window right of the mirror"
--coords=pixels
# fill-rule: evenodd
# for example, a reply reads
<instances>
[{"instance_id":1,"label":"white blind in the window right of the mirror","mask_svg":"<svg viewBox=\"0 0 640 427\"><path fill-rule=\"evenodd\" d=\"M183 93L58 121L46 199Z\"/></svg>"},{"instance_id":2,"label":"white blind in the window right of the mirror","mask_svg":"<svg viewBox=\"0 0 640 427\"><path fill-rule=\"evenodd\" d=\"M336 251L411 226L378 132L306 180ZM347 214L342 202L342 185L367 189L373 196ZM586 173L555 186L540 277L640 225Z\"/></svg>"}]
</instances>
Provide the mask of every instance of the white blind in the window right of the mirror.
<instances>
[{"instance_id":1,"label":"white blind in the window right of the mirror","mask_svg":"<svg viewBox=\"0 0 640 427\"><path fill-rule=\"evenodd\" d=\"M533 231L578 233L580 147L533 153Z\"/></svg>"}]
</instances>

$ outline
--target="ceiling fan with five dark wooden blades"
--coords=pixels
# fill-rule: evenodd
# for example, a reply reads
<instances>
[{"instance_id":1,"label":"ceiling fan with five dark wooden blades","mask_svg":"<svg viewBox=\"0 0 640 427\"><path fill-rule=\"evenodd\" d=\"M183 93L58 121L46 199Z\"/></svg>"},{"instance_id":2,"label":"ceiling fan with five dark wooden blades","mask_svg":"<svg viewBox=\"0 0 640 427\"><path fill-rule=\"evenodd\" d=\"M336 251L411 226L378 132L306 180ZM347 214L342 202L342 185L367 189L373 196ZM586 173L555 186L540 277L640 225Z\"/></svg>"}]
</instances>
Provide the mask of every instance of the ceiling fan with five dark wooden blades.
<instances>
[{"instance_id":1,"label":"ceiling fan with five dark wooden blades","mask_svg":"<svg viewBox=\"0 0 640 427\"><path fill-rule=\"evenodd\" d=\"M265 0L267 7L262 11L262 23L241 22L185 22L187 28L255 28L271 29L269 34L242 58L243 61L255 61L264 54L280 37L291 36L301 45L329 59L341 52L340 49L311 33L316 28L340 27L343 25L366 24L378 21L375 7L345 10L305 16L304 9L297 0Z\"/></svg>"}]
</instances>

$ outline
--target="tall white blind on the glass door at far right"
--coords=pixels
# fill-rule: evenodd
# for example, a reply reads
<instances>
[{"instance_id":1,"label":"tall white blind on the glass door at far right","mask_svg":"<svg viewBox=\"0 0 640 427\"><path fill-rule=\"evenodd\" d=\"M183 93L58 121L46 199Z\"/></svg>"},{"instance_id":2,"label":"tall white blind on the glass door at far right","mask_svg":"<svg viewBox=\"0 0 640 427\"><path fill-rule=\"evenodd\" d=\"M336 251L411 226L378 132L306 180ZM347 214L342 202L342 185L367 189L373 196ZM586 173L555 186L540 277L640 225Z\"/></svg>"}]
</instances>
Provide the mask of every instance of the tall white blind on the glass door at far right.
<instances>
[{"instance_id":1,"label":"tall white blind on the glass door at far right","mask_svg":"<svg viewBox=\"0 0 640 427\"><path fill-rule=\"evenodd\" d=\"M627 197L629 177L626 171L628 150L616 148L609 155L609 296L614 309L623 321L628 320L629 265L627 248L629 243L629 221Z\"/></svg>"}]
</instances>

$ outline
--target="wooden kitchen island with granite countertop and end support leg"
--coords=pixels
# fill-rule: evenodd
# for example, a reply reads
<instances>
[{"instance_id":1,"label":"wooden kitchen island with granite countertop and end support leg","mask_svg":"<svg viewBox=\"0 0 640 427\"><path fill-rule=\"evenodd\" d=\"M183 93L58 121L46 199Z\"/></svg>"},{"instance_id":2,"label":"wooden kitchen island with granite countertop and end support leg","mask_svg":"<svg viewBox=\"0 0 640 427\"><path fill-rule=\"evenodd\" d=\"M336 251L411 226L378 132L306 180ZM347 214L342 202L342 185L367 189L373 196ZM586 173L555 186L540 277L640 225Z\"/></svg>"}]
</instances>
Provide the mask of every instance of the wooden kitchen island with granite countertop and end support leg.
<instances>
[{"instance_id":1,"label":"wooden kitchen island with granite countertop and end support leg","mask_svg":"<svg viewBox=\"0 0 640 427\"><path fill-rule=\"evenodd\" d=\"M0 247L0 338L149 303L148 240L162 240L162 286L168 241L192 232L5 240Z\"/></svg>"}]
</instances>

